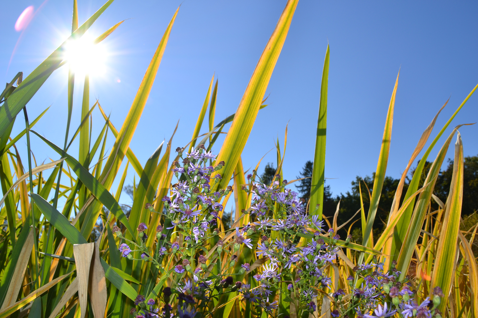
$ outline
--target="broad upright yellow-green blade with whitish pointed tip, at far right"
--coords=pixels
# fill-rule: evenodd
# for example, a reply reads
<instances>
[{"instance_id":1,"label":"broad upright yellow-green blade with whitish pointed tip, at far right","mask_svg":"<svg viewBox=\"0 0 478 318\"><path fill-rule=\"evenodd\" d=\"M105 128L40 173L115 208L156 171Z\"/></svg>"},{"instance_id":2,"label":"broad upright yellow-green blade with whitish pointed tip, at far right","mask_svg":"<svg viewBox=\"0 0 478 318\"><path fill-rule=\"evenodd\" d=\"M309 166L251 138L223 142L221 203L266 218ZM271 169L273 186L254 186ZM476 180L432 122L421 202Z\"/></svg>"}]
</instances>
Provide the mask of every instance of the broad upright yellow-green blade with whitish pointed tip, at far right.
<instances>
[{"instance_id":1,"label":"broad upright yellow-green blade with whitish pointed tip, at far right","mask_svg":"<svg viewBox=\"0 0 478 318\"><path fill-rule=\"evenodd\" d=\"M431 286L439 286L443 293L448 295L451 290L453 267L452 259L456 254L456 242L460 229L461 204L463 200L463 144L461 135L457 132L455 144L455 160L450 192L446 200L445 215L442 230L438 240L435 266L433 267ZM445 310L446 302L442 302L438 309Z\"/></svg>"}]
</instances>

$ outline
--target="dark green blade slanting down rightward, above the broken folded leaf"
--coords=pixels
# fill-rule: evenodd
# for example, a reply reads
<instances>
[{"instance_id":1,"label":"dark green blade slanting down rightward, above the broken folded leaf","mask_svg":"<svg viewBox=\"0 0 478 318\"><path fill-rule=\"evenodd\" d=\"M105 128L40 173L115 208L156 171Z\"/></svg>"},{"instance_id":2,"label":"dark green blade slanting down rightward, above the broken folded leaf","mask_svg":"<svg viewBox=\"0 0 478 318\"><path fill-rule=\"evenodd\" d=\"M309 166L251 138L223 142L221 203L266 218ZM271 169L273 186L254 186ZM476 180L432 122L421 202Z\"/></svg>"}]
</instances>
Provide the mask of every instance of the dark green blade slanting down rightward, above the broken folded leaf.
<instances>
[{"instance_id":1,"label":"dark green blade slanting down rightward, above the broken folded leaf","mask_svg":"<svg viewBox=\"0 0 478 318\"><path fill-rule=\"evenodd\" d=\"M32 133L35 133L39 136L46 144L53 148L58 154L62 154L63 151L55 144L50 142L48 139L41 136L39 133L36 133L32 130ZM133 230L128 222L126 215L124 214L123 210L121 210L120 205L115 200L113 195L109 193L109 191L93 176L91 175L87 169L85 169L75 158L70 156L69 154L65 154L65 161L70 165L73 169L75 174L81 180L81 182L88 188L89 191L101 202L103 205L106 206L113 215L115 215L118 220L126 226L126 229L133 233ZM95 219L96 220L96 219ZM69 223L69 222L68 222ZM91 232L91 231L90 231ZM88 232L88 236L89 233Z\"/></svg>"}]
</instances>

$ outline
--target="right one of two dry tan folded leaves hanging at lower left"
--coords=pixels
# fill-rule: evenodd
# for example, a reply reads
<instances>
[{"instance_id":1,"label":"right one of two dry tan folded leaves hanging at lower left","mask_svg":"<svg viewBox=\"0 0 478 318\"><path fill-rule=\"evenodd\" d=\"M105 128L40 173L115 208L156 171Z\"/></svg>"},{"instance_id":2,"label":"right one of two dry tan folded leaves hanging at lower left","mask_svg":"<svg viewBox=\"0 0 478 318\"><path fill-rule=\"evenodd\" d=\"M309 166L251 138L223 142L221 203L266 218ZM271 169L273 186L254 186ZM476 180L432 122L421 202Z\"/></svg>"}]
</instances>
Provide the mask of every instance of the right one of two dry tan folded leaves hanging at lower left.
<instances>
[{"instance_id":1,"label":"right one of two dry tan folded leaves hanging at lower left","mask_svg":"<svg viewBox=\"0 0 478 318\"><path fill-rule=\"evenodd\" d=\"M94 245L93 256L91 258L91 266L88 281L88 293L90 295L90 305L93 309L95 318L103 318L105 316L107 304L107 290L105 270L101 266L98 245Z\"/></svg>"}]
</instances>

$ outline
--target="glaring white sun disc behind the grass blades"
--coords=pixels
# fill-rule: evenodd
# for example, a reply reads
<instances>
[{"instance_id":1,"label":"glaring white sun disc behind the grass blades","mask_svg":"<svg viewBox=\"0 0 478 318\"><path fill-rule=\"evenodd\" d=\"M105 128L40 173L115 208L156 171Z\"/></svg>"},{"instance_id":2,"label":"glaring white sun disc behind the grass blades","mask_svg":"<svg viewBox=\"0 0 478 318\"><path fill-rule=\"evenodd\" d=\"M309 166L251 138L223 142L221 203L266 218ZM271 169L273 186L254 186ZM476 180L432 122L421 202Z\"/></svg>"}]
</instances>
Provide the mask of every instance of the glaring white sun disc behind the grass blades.
<instances>
[{"instance_id":1,"label":"glaring white sun disc behind the grass blades","mask_svg":"<svg viewBox=\"0 0 478 318\"><path fill-rule=\"evenodd\" d=\"M106 72L107 51L86 34L65 43L63 58L77 75L102 75Z\"/></svg>"}]
</instances>

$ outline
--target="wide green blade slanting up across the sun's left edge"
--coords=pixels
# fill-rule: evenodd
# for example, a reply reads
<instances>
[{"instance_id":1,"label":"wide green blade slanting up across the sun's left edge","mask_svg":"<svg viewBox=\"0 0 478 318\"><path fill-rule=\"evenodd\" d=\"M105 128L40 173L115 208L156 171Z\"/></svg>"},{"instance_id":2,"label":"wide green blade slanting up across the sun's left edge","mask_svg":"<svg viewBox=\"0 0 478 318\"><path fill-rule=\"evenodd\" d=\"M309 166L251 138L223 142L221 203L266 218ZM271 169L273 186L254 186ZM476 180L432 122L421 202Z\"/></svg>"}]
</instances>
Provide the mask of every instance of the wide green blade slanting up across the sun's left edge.
<instances>
[{"instance_id":1,"label":"wide green blade slanting up across the sun's left edge","mask_svg":"<svg viewBox=\"0 0 478 318\"><path fill-rule=\"evenodd\" d=\"M66 41L62 43L50 56L48 56L22 83L11 93L8 99L0 107L0 135L2 135L15 116L30 101L33 95L42 87L43 83L58 68L63 61L63 51L65 44L81 37L95 22L98 17L106 10L113 0L106 2L98 11L96 11L85 23L83 23Z\"/></svg>"}]
</instances>

